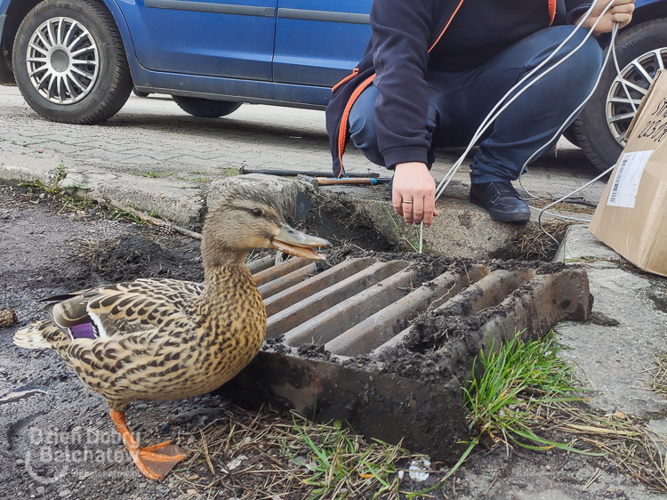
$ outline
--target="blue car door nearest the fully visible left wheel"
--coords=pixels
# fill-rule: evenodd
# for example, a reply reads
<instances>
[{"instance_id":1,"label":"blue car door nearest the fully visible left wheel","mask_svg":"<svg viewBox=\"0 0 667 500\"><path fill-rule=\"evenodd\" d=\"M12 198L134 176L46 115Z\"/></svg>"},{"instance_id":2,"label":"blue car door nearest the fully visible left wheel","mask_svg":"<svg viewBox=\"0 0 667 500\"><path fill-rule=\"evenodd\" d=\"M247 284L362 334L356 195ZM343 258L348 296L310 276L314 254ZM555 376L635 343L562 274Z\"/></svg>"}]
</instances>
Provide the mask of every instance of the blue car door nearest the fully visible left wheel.
<instances>
[{"instance_id":1,"label":"blue car door nearest the fully visible left wheel","mask_svg":"<svg viewBox=\"0 0 667 500\"><path fill-rule=\"evenodd\" d=\"M271 79L277 0L120 2L146 69Z\"/></svg>"}]
</instances>

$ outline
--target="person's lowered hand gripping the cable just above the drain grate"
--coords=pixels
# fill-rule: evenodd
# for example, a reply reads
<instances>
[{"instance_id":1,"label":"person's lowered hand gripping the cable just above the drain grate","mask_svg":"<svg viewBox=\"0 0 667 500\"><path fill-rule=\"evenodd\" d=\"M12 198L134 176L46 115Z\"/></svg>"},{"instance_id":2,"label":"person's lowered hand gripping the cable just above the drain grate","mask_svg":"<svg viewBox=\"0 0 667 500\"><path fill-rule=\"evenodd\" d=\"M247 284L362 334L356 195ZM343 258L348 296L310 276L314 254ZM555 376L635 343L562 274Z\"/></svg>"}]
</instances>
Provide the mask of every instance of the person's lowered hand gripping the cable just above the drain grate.
<instances>
[{"instance_id":1,"label":"person's lowered hand gripping the cable just above the drain grate","mask_svg":"<svg viewBox=\"0 0 667 500\"><path fill-rule=\"evenodd\" d=\"M427 228L438 215L436 181L423 163L399 163L394 170L391 203L408 224L424 222Z\"/></svg>"}]
</instances>

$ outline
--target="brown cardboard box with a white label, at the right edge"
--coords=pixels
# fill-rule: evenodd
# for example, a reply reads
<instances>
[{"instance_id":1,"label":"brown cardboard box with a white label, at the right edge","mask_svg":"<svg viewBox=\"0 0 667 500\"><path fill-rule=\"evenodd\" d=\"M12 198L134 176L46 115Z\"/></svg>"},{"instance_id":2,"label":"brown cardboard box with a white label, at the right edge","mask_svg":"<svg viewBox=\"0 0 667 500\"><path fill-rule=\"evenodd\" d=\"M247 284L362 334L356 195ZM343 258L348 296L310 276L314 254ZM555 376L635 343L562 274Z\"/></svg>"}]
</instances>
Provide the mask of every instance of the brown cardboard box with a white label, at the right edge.
<instances>
[{"instance_id":1,"label":"brown cardboard box with a white label, at the right edge","mask_svg":"<svg viewBox=\"0 0 667 500\"><path fill-rule=\"evenodd\" d=\"M642 270L667 276L667 73L660 71L591 222L591 233Z\"/></svg>"}]
</instances>

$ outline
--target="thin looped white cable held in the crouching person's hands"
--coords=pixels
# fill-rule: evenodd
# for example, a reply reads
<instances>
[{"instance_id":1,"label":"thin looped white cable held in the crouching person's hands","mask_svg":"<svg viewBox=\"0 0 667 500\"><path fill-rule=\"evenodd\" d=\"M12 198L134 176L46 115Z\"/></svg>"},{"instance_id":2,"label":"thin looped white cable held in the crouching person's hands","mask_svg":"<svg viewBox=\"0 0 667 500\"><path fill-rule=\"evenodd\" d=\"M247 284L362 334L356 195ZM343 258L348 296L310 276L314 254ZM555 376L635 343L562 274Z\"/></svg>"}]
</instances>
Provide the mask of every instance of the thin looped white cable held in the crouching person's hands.
<instances>
[{"instance_id":1,"label":"thin looped white cable held in the crouching person's hands","mask_svg":"<svg viewBox=\"0 0 667 500\"><path fill-rule=\"evenodd\" d=\"M491 110L491 112L485 117L485 119L482 121L482 123L478 126L478 130L477 130L477 132L476 132L475 135L473 136L473 138L472 138L472 140L470 141L468 147L465 149L465 151L463 151L462 156L459 157L459 159L454 163L454 165L452 165L452 167L451 167L451 168L449 169L449 171L446 173L445 177L444 177L444 178L442 179L442 181L440 181L440 183L438 184L438 188L436 189L436 197L435 197L436 200L437 200L437 199L442 195L442 193L446 190L446 187L449 185L449 182L452 181L452 179L454 178L454 173L456 173L456 171L460 168L460 166L462 165L462 163L463 163L465 157L466 157L466 156L468 155L468 153L470 152L470 149L472 149L472 147L477 143L479 137L481 137L481 135L482 135L483 133L486 132L486 129L488 128L488 126L491 125L491 124L497 119L497 117L499 117L499 116L501 115L502 111L504 111L505 109L507 109L513 101L516 101L516 100L518 99L518 97L519 97L522 93L526 92L526 90L527 90L528 88L530 88L531 85L534 85L540 78L546 76L547 74L550 73L551 70L558 68L560 64L562 64L562 63L565 62L567 59L569 59L571 56L573 56L573 55L575 54L575 52L579 51L579 49L581 49L581 48L583 47L583 44L585 44L585 43L588 41L588 39L591 37L591 35L592 35L594 29L597 27L599 21L602 19L602 17L604 16L604 14L605 14L605 13L612 7L612 6L613 6L613 4L614 4L614 0L612 0L611 2L609 2L609 4L607 4L607 6L604 8L604 10L600 13L598 19L597 19L597 20L593 23L593 25L591 26L591 29L589 30L589 32L586 34L586 36L584 36L583 41L582 41L579 45L577 45L577 46L575 47L575 49L573 49L570 53L568 53L567 56L566 56L565 58L563 58L562 60L559 60L559 62L557 62L555 65L553 65L552 67L550 67L549 69L547 69L546 71L544 71L541 75L539 75L538 77L535 77L533 81L529 82L524 88L522 88L521 90L519 90L518 93L516 93L516 94L510 99L510 101L507 101L507 102L505 102L504 105L502 105L502 102L504 102L505 100L507 100L507 98L510 96L511 93L515 92L515 91L518 89L518 87L519 87L520 85L522 85L524 82L526 82L526 80L527 80L529 77L532 77L537 71L539 71L540 69L542 69L542 67L543 67L543 66L544 66L550 59L552 59L552 58L559 52L559 50L560 50L565 44L567 44L567 42L568 42L568 41L575 35L575 33L577 32L577 30L578 30L579 28L581 28L581 27L583 26L583 23L590 17L591 12L592 12L593 8L595 7L595 5L598 3L598 1L599 1L599 0L594 0L594 1L593 1L593 4L591 4L591 7L589 8L589 10L586 11L586 13L583 15L582 19L577 23L577 25L575 26L575 29L572 31L572 33L570 33L570 35L567 36L567 37L563 40L563 42L561 42L561 44L559 44L559 46L556 47L556 49L555 49L553 52L551 52L550 55L549 55L545 60L542 60L542 63L540 63L537 67L535 67L535 68L532 69L529 73L527 73L524 77L522 77L522 78L518 81L518 83L517 83L516 85L512 86L512 87L510 88L510 90L509 90L507 93L505 93L504 96L502 96L502 99L496 103L496 105L494 106L494 109ZM617 26L617 23L615 24L615 27L616 27L616 26ZM613 36L615 36L615 30L613 31ZM613 51L613 44L612 44L611 46L612 46L612 51ZM607 57L605 58L605 64L603 65L602 69L604 69L604 67L607 65L607 60L608 60L608 52L607 52ZM595 87L597 87L597 85L598 85L598 83L599 83L599 79L600 79L601 74L602 74L602 69L600 70L600 74L599 74L599 76L598 76L598 80L596 81ZM578 110L580 110L580 109L583 108L583 106L585 105L586 101L588 101L588 100L591 98L592 93L595 92L595 87L593 88L593 91L589 94L589 96L586 98L586 100L582 103L582 105L580 105L580 106L577 108L577 110L575 110L575 112L578 112ZM499 109L499 110L496 112L496 109L498 109L498 107L501 106L501 105L502 105L501 109ZM545 144L544 146L542 146L541 149L538 149L538 151L542 151L548 144L550 144L551 141L554 140L554 138L555 138L556 135L559 135L559 133L562 133L562 129L565 128L565 125L566 125L567 122L571 119L572 115L574 115L574 113L571 114L570 117L567 117L566 123L563 124L563 125L561 125L561 127L560 127L560 129L559 129L559 132L556 133L556 134L554 135L554 137L552 137L552 138L550 139L550 141L547 142L547 144ZM536 153L537 153L537 152L536 152ZM535 154L536 154L536 153L535 153ZM526 167L527 163L529 163L530 159L532 159L532 158L535 156L535 154L534 154L533 156L531 156L531 158L529 158L528 161L526 161L526 164L522 167L522 172L523 172L523 169ZM596 179L596 180L597 180L597 179ZM592 181L591 181L591 182L592 182ZM588 184L585 184L583 187L588 186L591 182L589 182ZM519 184L520 184L520 175L519 175ZM523 186L522 186L522 187L523 187ZM583 187L580 188L579 190L582 190ZM526 192L527 192L527 191L526 191ZM573 193L568 194L566 198L569 198L570 196L572 196L572 195L575 194L576 192L578 192L578 190L573 191ZM564 198L564 199L565 199L565 198ZM555 202L553 205L555 205L556 203L558 203L558 202ZM546 208L545 208L545 210L546 210ZM543 212L544 212L544 211L542 211L542 213L543 213ZM542 228L542 222L541 222L542 213L540 214L540 228L543 230L543 228ZM422 243L422 242L423 242L423 230L424 230L424 224L423 224L423 221L422 221L422 224L420 225L420 241L419 241L419 253L420 253L420 254L422 254L422 252L423 252L423 243ZM545 231L545 232L546 232L546 231ZM547 233L547 234L548 234L548 233ZM549 236L550 236L550 235L549 235ZM550 238L552 238L552 237L550 236Z\"/></svg>"}]
</instances>

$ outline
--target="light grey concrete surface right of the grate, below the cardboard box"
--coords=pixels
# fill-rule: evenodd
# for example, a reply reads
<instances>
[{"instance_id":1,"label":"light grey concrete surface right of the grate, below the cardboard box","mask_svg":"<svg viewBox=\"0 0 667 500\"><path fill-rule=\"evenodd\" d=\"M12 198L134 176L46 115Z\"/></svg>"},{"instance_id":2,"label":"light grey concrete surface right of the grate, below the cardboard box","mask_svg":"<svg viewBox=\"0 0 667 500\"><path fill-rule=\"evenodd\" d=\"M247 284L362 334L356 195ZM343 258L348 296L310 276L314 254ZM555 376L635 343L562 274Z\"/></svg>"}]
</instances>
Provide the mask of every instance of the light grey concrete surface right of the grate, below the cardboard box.
<instances>
[{"instance_id":1,"label":"light grey concrete surface right of the grate, below the cardboard box","mask_svg":"<svg viewBox=\"0 0 667 500\"><path fill-rule=\"evenodd\" d=\"M667 314L652 298L655 288L664 285L663 278L632 272L629 262L583 225L568 228L554 262L587 262L593 310L619 322L557 328L559 340L572 348L563 351L563 357L576 363L582 380L595 391L591 407L630 415L662 412L667 401L643 387L654 354L665 351Z\"/></svg>"}]
</instances>

